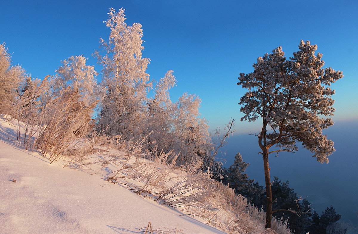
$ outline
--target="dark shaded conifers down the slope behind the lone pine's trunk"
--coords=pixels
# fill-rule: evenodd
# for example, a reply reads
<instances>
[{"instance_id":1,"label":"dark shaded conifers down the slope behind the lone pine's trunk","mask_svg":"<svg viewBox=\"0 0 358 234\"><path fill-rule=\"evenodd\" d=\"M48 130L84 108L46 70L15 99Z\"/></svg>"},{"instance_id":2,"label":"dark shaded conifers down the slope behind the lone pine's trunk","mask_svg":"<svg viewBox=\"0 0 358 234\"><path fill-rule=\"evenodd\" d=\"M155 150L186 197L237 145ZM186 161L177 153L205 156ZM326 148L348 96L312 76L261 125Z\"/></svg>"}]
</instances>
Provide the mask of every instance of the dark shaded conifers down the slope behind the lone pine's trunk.
<instances>
[{"instance_id":1,"label":"dark shaded conifers down the slope behind the lone pine's trunk","mask_svg":"<svg viewBox=\"0 0 358 234\"><path fill-rule=\"evenodd\" d=\"M223 178L215 176L223 184L233 188L236 194L244 196L257 208L266 208L266 191L255 180L249 179L245 173L248 163L245 163L240 153L235 155L234 163L229 168L223 168ZM328 207L321 216L310 208L310 203L301 198L294 189L289 187L289 181L281 182L274 177L272 182L272 210L276 218L288 219L289 228L295 234L325 234L326 228L338 221L340 215L336 214L333 206Z\"/></svg>"}]
</instances>

